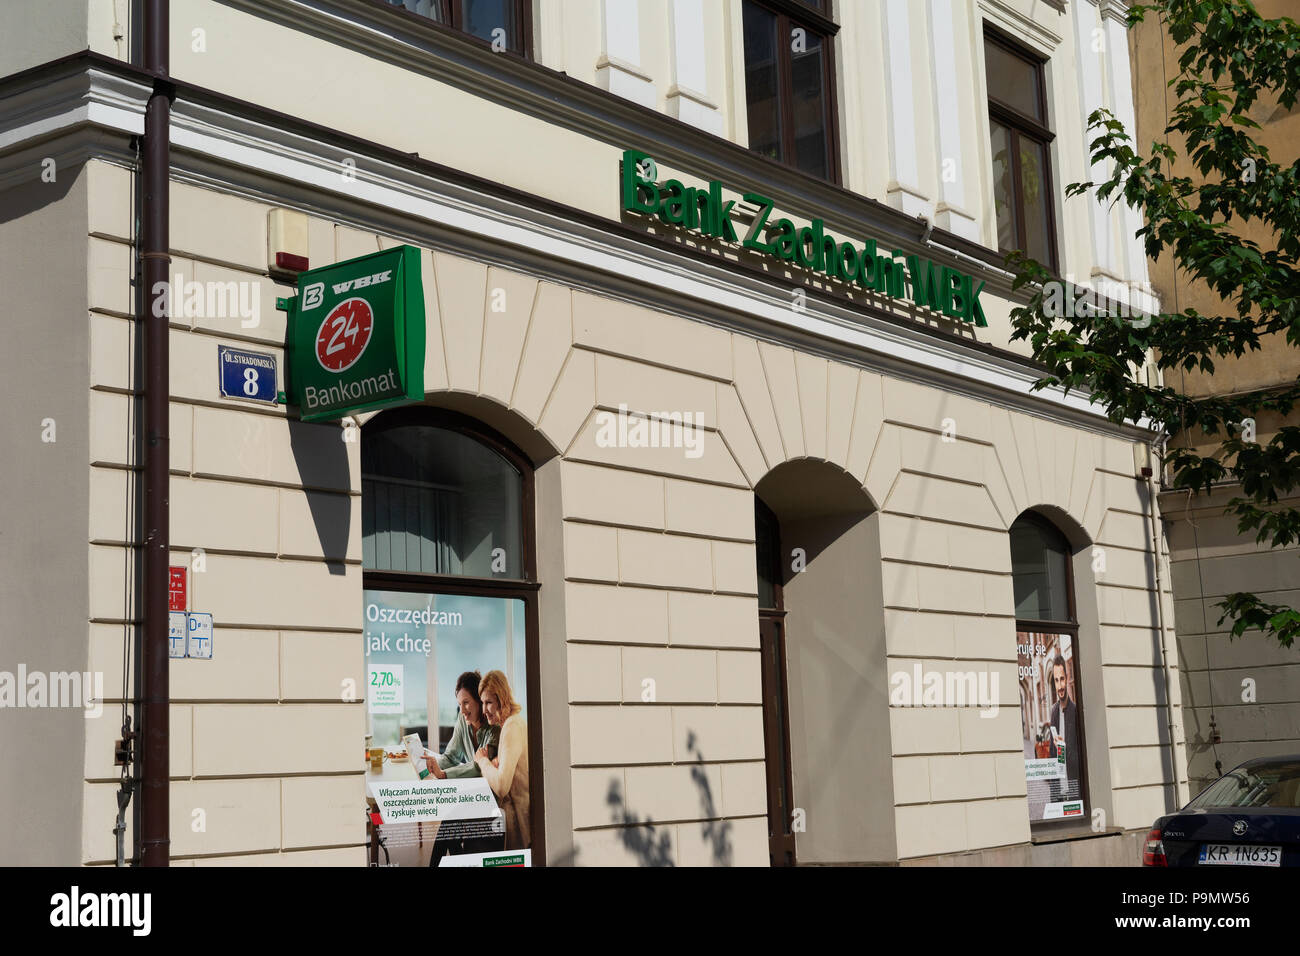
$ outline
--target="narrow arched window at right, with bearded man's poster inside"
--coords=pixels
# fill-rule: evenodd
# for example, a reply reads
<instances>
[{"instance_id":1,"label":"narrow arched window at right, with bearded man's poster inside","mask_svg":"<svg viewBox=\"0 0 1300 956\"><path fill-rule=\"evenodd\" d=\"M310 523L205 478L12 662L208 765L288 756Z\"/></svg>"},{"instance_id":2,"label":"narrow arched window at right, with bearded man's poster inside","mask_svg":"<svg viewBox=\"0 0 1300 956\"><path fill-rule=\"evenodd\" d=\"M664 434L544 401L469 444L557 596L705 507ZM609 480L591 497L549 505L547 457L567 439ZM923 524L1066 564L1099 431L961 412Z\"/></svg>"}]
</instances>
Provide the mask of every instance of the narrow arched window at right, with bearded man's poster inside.
<instances>
[{"instance_id":1,"label":"narrow arched window at right, with bearded man's poster inside","mask_svg":"<svg viewBox=\"0 0 1300 956\"><path fill-rule=\"evenodd\" d=\"M1032 511L1015 520L1010 538L1030 823L1078 825L1088 819L1088 782L1070 571L1074 549L1054 524Z\"/></svg>"}]
</instances>

